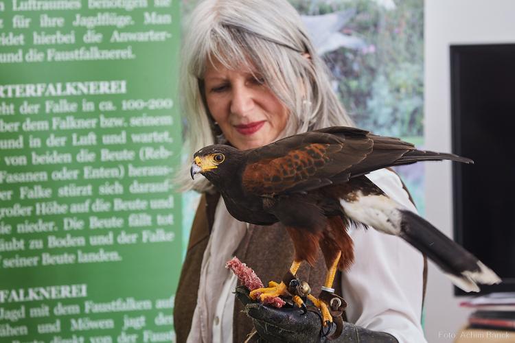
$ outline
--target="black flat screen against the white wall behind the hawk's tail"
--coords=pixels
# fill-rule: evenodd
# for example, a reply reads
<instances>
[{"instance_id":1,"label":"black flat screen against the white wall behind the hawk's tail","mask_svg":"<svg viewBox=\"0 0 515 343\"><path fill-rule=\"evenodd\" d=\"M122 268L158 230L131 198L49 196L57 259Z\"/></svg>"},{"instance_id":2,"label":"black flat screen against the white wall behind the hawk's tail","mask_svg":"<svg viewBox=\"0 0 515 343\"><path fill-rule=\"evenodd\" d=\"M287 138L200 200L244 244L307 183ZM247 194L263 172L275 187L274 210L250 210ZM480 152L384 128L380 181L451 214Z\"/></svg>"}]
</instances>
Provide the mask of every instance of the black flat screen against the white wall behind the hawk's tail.
<instances>
[{"instance_id":1,"label":"black flat screen against the white wall behind the hawk's tail","mask_svg":"<svg viewBox=\"0 0 515 343\"><path fill-rule=\"evenodd\" d=\"M515 292L515 44L452 45L450 74L455 239Z\"/></svg>"}]
</instances>

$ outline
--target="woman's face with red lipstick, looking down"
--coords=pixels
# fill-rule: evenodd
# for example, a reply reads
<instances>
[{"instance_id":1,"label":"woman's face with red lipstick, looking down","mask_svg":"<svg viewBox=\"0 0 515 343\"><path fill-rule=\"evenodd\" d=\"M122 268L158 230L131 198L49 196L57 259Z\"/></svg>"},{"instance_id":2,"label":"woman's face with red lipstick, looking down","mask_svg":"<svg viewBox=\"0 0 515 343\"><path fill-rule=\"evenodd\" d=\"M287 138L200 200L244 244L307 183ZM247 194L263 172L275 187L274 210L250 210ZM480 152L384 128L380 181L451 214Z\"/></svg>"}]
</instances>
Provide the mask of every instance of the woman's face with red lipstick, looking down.
<instances>
[{"instance_id":1,"label":"woman's face with red lipstick, looking down","mask_svg":"<svg viewBox=\"0 0 515 343\"><path fill-rule=\"evenodd\" d=\"M208 65L207 107L225 138L240 150L275 141L286 126L288 110L270 88L250 71L229 70L219 61Z\"/></svg>"}]
</instances>

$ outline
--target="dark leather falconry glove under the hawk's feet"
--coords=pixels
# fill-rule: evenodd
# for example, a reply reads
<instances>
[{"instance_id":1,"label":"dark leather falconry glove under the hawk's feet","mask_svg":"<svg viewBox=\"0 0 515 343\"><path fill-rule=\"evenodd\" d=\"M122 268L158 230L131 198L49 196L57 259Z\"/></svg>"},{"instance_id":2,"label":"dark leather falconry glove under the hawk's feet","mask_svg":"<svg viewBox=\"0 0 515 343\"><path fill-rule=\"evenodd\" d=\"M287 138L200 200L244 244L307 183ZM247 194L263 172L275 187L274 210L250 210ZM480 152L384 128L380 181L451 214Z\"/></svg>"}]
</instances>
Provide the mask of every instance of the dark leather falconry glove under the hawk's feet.
<instances>
[{"instance_id":1,"label":"dark leather falconry glove under the hawk's feet","mask_svg":"<svg viewBox=\"0 0 515 343\"><path fill-rule=\"evenodd\" d=\"M310 307L314 310L308 309L304 314L299 307L277 309L262 305L249 298L249 289L244 286L236 287L236 296L244 305L247 316L252 318L260 343L398 343L389 333L371 331L350 322L343 322L343 331L338 338L328 340L327 336L334 332L335 326L324 335L323 331L328 328L322 327L316 307Z\"/></svg>"}]
</instances>

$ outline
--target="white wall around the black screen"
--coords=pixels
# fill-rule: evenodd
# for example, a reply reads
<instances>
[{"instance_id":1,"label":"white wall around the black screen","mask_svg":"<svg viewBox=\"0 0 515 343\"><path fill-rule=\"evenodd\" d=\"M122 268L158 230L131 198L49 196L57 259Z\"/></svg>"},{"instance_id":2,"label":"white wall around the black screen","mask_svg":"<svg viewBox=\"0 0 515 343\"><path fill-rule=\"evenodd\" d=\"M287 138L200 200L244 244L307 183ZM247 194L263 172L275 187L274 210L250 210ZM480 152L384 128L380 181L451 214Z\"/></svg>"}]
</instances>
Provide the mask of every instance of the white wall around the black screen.
<instances>
[{"instance_id":1,"label":"white wall around the black screen","mask_svg":"<svg viewBox=\"0 0 515 343\"><path fill-rule=\"evenodd\" d=\"M425 146L448 152L450 139L449 45L515 43L514 0L426 0ZM426 217L452 237L451 165L426 163ZM459 308L449 281L432 263L426 296L428 342L453 342L470 311Z\"/></svg>"}]
</instances>

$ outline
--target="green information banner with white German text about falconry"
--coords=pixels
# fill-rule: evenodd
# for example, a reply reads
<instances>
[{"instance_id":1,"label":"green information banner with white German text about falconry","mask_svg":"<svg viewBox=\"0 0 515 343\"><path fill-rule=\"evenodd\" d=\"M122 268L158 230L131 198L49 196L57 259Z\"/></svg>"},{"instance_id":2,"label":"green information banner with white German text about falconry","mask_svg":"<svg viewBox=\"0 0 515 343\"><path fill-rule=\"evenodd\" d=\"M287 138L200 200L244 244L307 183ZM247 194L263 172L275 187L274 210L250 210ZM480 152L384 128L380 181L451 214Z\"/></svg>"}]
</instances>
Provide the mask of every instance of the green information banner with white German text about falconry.
<instances>
[{"instance_id":1,"label":"green information banner with white German text about falconry","mask_svg":"<svg viewBox=\"0 0 515 343\"><path fill-rule=\"evenodd\" d=\"M174 342L179 1L0 1L0 342Z\"/></svg>"}]
</instances>

